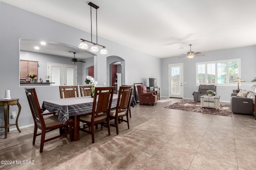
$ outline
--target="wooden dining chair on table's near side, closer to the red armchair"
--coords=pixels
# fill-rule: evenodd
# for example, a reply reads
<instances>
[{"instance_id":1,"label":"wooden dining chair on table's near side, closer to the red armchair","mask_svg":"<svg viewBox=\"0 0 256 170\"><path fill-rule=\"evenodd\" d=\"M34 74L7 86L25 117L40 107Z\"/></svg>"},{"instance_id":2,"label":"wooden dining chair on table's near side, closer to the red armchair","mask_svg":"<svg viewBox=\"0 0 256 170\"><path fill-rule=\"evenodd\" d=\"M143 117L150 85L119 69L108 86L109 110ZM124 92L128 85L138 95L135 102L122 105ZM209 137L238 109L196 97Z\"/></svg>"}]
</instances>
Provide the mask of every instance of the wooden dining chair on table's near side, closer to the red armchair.
<instances>
[{"instance_id":1,"label":"wooden dining chair on table's near side, closer to the red armchair","mask_svg":"<svg viewBox=\"0 0 256 170\"><path fill-rule=\"evenodd\" d=\"M119 121L126 122L129 129L129 109L132 98L132 88L133 86L120 86L117 105L116 108L111 109L110 111L110 120L115 119L114 124L110 124L110 126L116 127L116 135L118 135L118 123ZM123 117L126 116L126 120Z\"/></svg>"}]
</instances>

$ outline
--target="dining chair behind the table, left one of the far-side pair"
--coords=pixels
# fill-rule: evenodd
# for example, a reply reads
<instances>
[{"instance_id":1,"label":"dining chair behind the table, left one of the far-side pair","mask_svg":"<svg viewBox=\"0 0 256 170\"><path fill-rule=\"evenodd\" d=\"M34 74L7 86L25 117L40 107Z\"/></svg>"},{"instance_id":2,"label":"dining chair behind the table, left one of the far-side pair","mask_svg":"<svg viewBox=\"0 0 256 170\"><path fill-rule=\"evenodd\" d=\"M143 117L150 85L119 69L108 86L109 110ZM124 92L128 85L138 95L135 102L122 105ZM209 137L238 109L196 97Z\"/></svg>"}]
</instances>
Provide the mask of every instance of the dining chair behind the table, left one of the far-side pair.
<instances>
[{"instance_id":1,"label":"dining chair behind the table, left one of the far-side pair","mask_svg":"<svg viewBox=\"0 0 256 170\"><path fill-rule=\"evenodd\" d=\"M78 97L78 86L60 86L60 98Z\"/></svg>"}]
</instances>

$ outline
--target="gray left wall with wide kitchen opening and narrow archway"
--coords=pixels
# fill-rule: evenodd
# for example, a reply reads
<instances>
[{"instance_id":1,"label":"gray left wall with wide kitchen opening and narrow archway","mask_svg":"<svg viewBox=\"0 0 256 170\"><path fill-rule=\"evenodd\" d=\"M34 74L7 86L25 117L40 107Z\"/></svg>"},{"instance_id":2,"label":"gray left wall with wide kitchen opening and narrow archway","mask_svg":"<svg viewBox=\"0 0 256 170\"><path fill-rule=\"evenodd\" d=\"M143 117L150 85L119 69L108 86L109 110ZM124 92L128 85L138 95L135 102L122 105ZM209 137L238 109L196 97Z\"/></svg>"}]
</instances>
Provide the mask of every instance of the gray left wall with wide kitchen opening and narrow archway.
<instances>
[{"instance_id":1,"label":"gray left wall with wide kitchen opening and narrow archway","mask_svg":"<svg viewBox=\"0 0 256 170\"><path fill-rule=\"evenodd\" d=\"M2 59L2 62L0 62L0 96L4 98L4 90L10 90L12 98L19 98L22 106L18 121L19 127L32 125L32 115L24 87L19 87L18 81L20 70L19 39L40 39L78 46L80 38L90 39L90 33L1 2L0 36L0 56ZM97 78L99 85L104 86L104 83L107 82L106 57L112 55L122 57L126 61L125 80L127 84L133 84L134 82L146 83L146 80L148 81L148 78L153 76L160 80L161 59L101 37L98 37L98 42L108 49L107 56L96 53L96 57L94 57L94 74L96 74L94 77ZM85 71L83 70L83 72ZM58 87L36 86L35 88L40 105L44 100L60 98ZM17 108L11 106L10 111L17 111ZM1 109L0 112L2 112ZM3 120L2 117L0 118ZM10 120L10 123L13 122L14 120Z\"/></svg>"}]
</instances>

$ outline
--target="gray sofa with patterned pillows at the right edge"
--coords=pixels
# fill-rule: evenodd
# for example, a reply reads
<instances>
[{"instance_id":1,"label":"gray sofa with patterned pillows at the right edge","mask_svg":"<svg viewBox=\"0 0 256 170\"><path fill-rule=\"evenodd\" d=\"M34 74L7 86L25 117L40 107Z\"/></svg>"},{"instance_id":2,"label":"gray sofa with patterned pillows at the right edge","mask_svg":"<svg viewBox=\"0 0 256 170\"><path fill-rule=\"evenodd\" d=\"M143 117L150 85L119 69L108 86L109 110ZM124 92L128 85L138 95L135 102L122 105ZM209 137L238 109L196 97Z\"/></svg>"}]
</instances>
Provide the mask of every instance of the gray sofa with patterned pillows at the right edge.
<instances>
[{"instance_id":1,"label":"gray sofa with patterned pillows at the right edge","mask_svg":"<svg viewBox=\"0 0 256 170\"><path fill-rule=\"evenodd\" d=\"M254 111L254 93L256 93L256 85L250 88L246 97L238 97L236 96L238 93L231 93L230 108L232 113L252 114Z\"/></svg>"}]
</instances>

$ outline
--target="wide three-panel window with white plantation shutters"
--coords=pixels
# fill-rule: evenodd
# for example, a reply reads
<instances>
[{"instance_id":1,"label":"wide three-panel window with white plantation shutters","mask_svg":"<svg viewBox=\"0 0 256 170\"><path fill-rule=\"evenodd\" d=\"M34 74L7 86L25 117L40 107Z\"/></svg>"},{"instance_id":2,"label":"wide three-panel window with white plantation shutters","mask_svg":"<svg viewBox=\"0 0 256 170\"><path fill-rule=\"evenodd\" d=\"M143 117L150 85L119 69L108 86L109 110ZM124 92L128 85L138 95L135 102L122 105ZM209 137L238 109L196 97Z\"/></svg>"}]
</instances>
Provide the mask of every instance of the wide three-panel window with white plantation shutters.
<instances>
[{"instance_id":1,"label":"wide three-panel window with white plantation shutters","mask_svg":"<svg viewBox=\"0 0 256 170\"><path fill-rule=\"evenodd\" d=\"M196 63L196 86L200 84L236 86L234 80L240 74L240 59Z\"/></svg>"}]
</instances>

